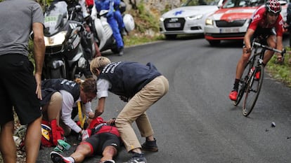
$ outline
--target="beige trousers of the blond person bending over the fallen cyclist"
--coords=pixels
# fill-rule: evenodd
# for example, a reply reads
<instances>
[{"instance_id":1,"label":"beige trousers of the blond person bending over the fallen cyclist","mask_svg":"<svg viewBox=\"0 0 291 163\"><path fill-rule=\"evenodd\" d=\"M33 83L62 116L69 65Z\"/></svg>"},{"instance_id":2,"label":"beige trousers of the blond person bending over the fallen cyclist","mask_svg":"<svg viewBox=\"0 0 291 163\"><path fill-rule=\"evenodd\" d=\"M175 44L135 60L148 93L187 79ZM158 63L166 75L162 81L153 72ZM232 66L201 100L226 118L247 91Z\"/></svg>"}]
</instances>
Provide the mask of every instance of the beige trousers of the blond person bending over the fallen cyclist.
<instances>
[{"instance_id":1,"label":"beige trousers of the blond person bending over the fallen cyclist","mask_svg":"<svg viewBox=\"0 0 291 163\"><path fill-rule=\"evenodd\" d=\"M139 143L131 126L132 122L136 121L141 136L153 135L152 125L150 125L150 120L148 120L145 111L161 99L168 90L169 82L167 78L157 76L157 78L145 85L141 91L136 93L117 116L115 125L128 152L135 148L141 148L141 143Z\"/></svg>"}]
</instances>

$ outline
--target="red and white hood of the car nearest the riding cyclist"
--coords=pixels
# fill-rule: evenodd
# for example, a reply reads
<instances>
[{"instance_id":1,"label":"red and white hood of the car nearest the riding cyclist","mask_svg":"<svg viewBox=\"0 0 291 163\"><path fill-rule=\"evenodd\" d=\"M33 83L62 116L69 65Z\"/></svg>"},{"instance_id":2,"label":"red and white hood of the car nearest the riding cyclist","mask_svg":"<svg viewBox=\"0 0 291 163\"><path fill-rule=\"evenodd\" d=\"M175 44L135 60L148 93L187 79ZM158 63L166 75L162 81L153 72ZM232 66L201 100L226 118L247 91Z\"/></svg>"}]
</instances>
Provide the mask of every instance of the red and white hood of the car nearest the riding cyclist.
<instances>
[{"instance_id":1,"label":"red and white hood of the car nearest the riding cyclist","mask_svg":"<svg viewBox=\"0 0 291 163\"><path fill-rule=\"evenodd\" d=\"M258 7L247 7L247 8L221 8L216 10L210 18L212 20L245 20L250 19L252 14Z\"/></svg>"}]
</instances>

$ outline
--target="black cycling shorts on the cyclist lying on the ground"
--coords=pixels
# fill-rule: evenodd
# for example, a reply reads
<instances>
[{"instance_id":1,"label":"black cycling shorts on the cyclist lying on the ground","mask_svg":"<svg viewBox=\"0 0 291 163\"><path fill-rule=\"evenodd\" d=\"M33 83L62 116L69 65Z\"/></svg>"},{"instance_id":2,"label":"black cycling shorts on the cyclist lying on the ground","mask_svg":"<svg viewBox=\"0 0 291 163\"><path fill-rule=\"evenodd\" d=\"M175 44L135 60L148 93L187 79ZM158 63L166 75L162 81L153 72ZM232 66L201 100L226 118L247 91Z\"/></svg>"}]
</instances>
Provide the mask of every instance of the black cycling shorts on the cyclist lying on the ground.
<instances>
[{"instance_id":1,"label":"black cycling shorts on the cyclist lying on the ground","mask_svg":"<svg viewBox=\"0 0 291 163\"><path fill-rule=\"evenodd\" d=\"M121 139L115 134L104 132L101 134L93 134L82 143L87 143L91 146L91 155L102 155L103 150L107 146L114 146L117 150L119 150Z\"/></svg>"}]
</instances>

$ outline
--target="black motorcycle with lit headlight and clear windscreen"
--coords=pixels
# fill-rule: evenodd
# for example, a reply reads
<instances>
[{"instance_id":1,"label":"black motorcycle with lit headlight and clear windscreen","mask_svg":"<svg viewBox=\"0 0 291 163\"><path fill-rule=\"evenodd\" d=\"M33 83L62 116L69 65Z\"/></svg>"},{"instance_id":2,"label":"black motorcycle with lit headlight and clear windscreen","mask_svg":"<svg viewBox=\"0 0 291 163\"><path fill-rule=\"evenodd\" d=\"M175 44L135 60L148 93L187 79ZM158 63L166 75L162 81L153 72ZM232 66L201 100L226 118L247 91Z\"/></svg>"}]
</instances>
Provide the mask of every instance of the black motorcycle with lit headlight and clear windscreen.
<instances>
[{"instance_id":1,"label":"black motorcycle with lit headlight and clear windscreen","mask_svg":"<svg viewBox=\"0 0 291 163\"><path fill-rule=\"evenodd\" d=\"M44 13L44 57L43 79L80 78L89 62L84 57L81 45L83 24L78 20L81 6L67 8L65 1L51 3Z\"/></svg>"}]
</instances>

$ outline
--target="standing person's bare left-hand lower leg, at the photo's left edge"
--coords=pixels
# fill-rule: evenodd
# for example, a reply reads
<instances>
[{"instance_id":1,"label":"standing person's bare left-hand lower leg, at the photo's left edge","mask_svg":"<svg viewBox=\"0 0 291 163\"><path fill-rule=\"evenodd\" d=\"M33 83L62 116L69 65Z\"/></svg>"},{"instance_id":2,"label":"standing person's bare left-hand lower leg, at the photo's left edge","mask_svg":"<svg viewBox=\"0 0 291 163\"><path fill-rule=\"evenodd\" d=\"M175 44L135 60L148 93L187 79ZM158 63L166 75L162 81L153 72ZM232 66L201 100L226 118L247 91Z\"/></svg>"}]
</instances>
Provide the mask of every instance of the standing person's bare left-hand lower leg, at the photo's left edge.
<instances>
[{"instance_id":1,"label":"standing person's bare left-hand lower leg, at the photo's left edge","mask_svg":"<svg viewBox=\"0 0 291 163\"><path fill-rule=\"evenodd\" d=\"M5 125L1 125L0 150L4 162L6 163L16 162L16 146L13 140L13 128L13 121L7 122Z\"/></svg>"}]
</instances>

